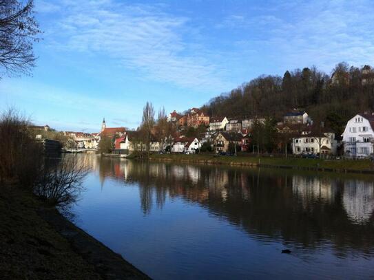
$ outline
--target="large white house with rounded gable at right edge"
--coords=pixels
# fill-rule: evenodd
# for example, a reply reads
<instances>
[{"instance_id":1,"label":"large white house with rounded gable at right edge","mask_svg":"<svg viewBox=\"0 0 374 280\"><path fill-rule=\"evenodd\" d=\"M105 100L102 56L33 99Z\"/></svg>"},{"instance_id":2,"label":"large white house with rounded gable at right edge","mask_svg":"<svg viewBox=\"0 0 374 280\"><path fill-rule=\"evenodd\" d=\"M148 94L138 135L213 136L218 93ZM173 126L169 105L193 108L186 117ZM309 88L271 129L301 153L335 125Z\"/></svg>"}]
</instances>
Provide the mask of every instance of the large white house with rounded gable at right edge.
<instances>
[{"instance_id":1,"label":"large white house with rounded gable at right edge","mask_svg":"<svg viewBox=\"0 0 374 280\"><path fill-rule=\"evenodd\" d=\"M366 158L372 153L374 140L374 113L357 114L346 123L342 134L344 154Z\"/></svg>"}]
</instances>

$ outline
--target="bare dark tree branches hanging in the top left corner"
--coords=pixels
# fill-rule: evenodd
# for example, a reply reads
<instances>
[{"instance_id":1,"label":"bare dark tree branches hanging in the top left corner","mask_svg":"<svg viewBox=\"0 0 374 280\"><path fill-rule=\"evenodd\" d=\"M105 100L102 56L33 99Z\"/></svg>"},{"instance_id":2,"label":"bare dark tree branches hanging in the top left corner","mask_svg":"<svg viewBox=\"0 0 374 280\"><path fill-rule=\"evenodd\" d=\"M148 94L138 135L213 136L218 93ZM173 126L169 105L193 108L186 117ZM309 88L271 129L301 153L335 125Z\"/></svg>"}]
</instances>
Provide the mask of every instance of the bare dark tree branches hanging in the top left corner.
<instances>
[{"instance_id":1,"label":"bare dark tree branches hanging in the top left corner","mask_svg":"<svg viewBox=\"0 0 374 280\"><path fill-rule=\"evenodd\" d=\"M34 19L34 1L0 0L0 66L9 75L30 74L32 51L41 33Z\"/></svg>"}]
</instances>

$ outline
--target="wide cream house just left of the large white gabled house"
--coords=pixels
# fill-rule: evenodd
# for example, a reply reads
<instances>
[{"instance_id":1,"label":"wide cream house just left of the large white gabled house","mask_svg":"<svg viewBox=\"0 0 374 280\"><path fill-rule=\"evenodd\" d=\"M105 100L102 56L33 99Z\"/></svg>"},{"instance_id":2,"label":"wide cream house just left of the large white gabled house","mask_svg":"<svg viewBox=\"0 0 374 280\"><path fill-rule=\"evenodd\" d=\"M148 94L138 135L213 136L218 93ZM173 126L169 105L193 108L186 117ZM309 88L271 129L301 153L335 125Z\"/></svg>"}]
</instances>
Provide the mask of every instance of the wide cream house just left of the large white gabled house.
<instances>
[{"instance_id":1,"label":"wide cream house just left of the large white gabled house","mask_svg":"<svg viewBox=\"0 0 374 280\"><path fill-rule=\"evenodd\" d=\"M295 155L302 153L335 155L337 146L338 143L333 132L313 133L302 131L300 136L292 139L292 152Z\"/></svg>"}]
</instances>

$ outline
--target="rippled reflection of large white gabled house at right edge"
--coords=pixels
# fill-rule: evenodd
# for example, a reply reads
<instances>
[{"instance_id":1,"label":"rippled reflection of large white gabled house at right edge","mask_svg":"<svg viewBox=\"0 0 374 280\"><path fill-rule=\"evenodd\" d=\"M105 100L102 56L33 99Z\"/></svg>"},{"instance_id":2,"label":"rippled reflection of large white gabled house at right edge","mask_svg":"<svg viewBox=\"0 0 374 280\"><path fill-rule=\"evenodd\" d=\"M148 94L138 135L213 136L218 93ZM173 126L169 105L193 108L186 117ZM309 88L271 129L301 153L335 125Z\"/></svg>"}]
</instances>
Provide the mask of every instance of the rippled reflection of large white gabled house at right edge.
<instances>
[{"instance_id":1,"label":"rippled reflection of large white gabled house at right edge","mask_svg":"<svg viewBox=\"0 0 374 280\"><path fill-rule=\"evenodd\" d=\"M353 222L367 222L374 210L374 184L359 180L344 182L343 205Z\"/></svg>"}]
</instances>

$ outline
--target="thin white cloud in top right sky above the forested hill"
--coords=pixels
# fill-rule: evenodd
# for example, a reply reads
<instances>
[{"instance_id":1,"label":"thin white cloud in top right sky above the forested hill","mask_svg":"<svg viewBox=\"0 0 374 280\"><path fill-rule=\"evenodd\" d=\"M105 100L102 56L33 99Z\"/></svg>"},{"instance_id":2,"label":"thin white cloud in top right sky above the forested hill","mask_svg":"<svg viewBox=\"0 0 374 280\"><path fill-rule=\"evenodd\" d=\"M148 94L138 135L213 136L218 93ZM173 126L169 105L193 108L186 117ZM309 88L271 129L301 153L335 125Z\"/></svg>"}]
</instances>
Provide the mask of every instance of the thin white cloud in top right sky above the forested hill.
<instances>
[{"instance_id":1,"label":"thin white cloud in top right sky above the forested hill","mask_svg":"<svg viewBox=\"0 0 374 280\"><path fill-rule=\"evenodd\" d=\"M372 1L287 1L260 12L230 15L218 28L250 31L251 38L236 44L244 52L260 50L264 61L282 67L330 70L340 61L357 66L374 61Z\"/></svg>"}]
</instances>

